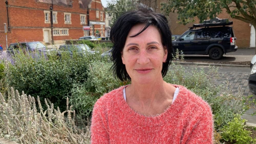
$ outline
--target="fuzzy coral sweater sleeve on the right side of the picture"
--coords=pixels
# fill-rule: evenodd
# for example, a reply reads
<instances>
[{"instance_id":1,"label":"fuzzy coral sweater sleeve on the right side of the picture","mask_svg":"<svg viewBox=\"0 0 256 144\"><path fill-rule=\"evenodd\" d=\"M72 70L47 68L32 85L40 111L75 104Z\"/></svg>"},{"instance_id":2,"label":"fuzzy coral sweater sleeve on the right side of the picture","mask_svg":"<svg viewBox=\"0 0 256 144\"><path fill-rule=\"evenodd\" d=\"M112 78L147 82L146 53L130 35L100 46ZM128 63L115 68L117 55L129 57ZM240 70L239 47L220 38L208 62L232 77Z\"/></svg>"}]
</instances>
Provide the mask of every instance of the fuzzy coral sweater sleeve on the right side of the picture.
<instances>
[{"instance_id":1,"label":"fuzzy coral sweater sleeve on the right side of the picture","mask_svg":"<svg viewBox=\"0 0 256 144\"><path fill-rule=\"evenodd\" d=\"M210 106L207 104L203 113L197 117L186 143L213 143L213 118Z\"/></svg>"}]
</instances>

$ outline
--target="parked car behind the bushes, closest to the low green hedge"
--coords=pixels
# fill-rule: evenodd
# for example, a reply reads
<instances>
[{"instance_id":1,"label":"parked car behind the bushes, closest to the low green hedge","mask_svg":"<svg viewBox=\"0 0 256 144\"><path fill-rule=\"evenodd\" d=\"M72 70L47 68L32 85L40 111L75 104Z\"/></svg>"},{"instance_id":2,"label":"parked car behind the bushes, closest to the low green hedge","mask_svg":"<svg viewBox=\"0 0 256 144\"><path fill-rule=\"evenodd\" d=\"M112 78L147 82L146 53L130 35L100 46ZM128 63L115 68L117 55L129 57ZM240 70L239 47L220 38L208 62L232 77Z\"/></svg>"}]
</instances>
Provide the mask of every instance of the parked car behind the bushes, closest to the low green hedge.
<instances>
[{"instance_id":1,"label":"parked car behind the bushes, closest to the low green hedge","mask_svg":"<svg viewBox=\"0 0 256 144\"><path fill-rule=\"evenodd\" d=\"M78 53L80 56L83 56L86 53L95 54L95 51L91 50L86 44L77 44L77 45L61 45L58 49L57 56L62 56L66 53L70 56L73 56L73 53Z\"/></svg>"}]
</instances>

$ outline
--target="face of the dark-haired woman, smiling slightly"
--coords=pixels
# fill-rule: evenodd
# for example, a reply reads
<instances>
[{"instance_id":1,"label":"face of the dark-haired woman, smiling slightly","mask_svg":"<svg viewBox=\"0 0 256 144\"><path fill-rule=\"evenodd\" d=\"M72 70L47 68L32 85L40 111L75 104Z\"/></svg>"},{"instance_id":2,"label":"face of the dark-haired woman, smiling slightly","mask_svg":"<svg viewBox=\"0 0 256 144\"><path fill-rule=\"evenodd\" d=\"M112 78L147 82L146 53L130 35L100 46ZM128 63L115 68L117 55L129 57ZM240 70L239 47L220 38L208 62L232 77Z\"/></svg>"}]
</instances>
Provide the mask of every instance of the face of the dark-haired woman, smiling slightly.
<instances>
[{"instance_id":1,"label":"face of the dark-haired woman, smiling slightly","mask_svg":"<svg viewBox=\"0 0 256 144\"><path fill-rule=\"evenodd\" d=\"M155 26L150 25L138 36L130 37L144 26L138 24L131 28L122 51L122 62L131 81L140 84L162 78L162 64L167 58L167 49L163 47L161 35Z\"/></svg>"}]
</instances>

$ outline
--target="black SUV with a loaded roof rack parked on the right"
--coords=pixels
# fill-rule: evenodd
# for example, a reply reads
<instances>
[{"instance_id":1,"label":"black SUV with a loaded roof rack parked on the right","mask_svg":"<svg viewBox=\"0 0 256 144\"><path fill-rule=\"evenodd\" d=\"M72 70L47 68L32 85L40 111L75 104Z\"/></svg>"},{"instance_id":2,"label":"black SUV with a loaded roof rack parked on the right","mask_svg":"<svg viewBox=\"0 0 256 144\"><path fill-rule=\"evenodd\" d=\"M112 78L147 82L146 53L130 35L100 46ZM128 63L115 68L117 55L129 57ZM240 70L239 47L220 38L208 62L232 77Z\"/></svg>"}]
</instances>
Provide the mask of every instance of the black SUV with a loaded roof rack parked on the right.
<instances>
[{"instance_id":1,"label":"black SUV with a loaded roof rack parked on the right","mask_svg":"<svg viewBox=\"0 0 256 144\"><path fill-rule=\"evenodd\" d=\"M235 52L238 48L233 29L227 26L232 24L227 19L218 18L194 24L179 39L172 41L173 51L178 49L183 54L209 55L211 59L221 59L223 54Z\"/></svg>"}]
</instances>

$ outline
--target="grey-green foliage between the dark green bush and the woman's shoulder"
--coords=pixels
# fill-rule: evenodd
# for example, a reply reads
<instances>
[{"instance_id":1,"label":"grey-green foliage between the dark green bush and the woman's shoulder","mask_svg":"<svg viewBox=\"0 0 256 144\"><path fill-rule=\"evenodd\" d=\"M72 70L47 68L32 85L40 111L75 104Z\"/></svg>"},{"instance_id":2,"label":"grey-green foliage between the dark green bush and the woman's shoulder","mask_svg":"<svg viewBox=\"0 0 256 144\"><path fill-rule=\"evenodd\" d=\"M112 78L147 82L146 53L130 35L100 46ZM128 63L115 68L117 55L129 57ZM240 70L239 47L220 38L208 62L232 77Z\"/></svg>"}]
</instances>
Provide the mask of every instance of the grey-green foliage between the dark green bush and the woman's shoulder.
<instances>
[{"instance_id":1,"label":"grey-green foliage between the dark green bush and the woman's shoulder","mask_svg":"<svg viewBox=\"0 0 256 144\"><path fill-rule=\"evenodd\" d=\"M90 116L96 100L104 93L127 84L115 79L111 66L107 61L95 61L88 69L87 81L73 85L70 103L81 118Z\"/></svg>"}]
</instances>

